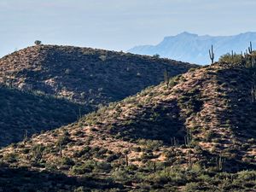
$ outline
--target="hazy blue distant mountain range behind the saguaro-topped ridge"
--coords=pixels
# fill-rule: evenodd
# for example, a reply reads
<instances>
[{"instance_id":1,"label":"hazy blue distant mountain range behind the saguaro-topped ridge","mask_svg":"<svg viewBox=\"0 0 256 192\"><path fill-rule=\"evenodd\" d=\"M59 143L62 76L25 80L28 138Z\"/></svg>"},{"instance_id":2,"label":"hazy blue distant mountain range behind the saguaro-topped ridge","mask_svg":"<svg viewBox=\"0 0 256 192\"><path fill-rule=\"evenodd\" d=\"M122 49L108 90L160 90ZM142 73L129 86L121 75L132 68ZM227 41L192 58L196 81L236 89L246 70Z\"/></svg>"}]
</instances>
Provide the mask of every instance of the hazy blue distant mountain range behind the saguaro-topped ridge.
<instances>
[{"instance_id":1,"label":"hazy blue distant mountain range behind the saguaro-topped ridge","mask_svg":"<svg viewBox=\"0 0 256 192\"><path fill-rule=\"evenodd\" d=\"M176 36L164 38L160 44L136 46L128 52L140 55L155 55L178 61L189 61L196 64L209 64L208 49L213 45L215 61L220 55L232 50L236 53L245 51L249 42L256 46L256 32L245 32L234 36L199 36L182 32Z\"/></svg>"}]
</instances>

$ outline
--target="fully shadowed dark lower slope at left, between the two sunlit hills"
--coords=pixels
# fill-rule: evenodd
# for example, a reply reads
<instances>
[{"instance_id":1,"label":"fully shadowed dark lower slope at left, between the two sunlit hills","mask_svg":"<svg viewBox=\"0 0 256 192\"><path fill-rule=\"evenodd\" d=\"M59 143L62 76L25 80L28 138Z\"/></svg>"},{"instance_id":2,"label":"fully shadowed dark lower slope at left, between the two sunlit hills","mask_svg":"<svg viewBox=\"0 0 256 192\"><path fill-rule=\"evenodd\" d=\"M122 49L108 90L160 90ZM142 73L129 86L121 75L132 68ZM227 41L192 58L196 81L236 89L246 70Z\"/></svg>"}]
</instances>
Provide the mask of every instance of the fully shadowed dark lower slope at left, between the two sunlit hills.
<instances>
[{"instance_id":1,"label":"fully shadowed dark lower slope at left, between the two sunlit hills","mask_svg":"<svg viewBox=\"0 0 256 192\"><path fill-rule=\"evenodd\" d=\"M65 99L5 86L0 86L0 109L0 147L70 124L92 110Z\"/></svg>"}]
</instances>

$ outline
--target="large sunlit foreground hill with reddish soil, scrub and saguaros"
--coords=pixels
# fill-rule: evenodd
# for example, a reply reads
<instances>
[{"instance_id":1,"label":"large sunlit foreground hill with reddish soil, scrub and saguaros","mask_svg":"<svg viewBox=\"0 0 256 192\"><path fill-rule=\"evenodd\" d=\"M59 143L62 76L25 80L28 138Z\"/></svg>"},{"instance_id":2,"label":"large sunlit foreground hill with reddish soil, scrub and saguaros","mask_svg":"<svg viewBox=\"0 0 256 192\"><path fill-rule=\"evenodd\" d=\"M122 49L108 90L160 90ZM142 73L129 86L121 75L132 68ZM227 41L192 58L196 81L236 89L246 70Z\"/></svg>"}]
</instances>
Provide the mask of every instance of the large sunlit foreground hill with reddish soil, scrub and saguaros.
<instances>
[{"instance_id":1,"label":"large sunlit foreground hill with reddish soil, scrub and saguaros","mask_svg":"<svg viewBox=\"0 0 256 192\"><path fill-rule=\"evenodd\" d=\"M102 189L117 191L255 190L254 73L241 63L191 69L77 123L3 148L2 164L80 181L57 189L97 189L83 181L103 178L113 183Z\"/></svg>"}]
</instances>

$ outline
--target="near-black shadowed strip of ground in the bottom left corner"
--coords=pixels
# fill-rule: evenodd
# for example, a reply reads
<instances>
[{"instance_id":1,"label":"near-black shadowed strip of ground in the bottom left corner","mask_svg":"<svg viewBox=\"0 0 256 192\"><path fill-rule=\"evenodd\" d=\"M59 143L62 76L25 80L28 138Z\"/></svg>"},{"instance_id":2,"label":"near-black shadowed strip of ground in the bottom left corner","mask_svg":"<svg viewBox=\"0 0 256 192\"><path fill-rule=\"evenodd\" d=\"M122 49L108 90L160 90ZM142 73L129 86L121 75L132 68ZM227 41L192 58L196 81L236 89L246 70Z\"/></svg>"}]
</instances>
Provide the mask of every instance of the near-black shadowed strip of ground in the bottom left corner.
<instances>
[{"instance_id":1,"label":"near-black shadowed strip of ground in the bottom left corner","mask_svg":"<svg viewBox=\"0 0 256 192\"><path fill-rule=\"evenodd\" d=\"M14 169L0 166L0 191L88 191L91 189L123 189L119 183L104 178L81 178L67 176L60 172L28 171L26 167ZM9 180L11 179L11 183ZM44 181L44 182L42 182Z\"/></svg>"}]
</instances>

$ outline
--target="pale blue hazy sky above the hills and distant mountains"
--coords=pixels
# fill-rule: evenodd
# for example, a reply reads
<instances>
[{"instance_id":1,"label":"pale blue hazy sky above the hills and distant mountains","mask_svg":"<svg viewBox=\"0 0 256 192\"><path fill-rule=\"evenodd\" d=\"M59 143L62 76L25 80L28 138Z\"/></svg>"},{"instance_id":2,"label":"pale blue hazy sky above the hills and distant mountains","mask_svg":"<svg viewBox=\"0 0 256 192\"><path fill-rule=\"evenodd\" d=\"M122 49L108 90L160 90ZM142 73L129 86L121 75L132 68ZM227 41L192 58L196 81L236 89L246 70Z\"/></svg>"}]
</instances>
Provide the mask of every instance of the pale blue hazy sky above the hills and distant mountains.
<instances>
[{"instance_id":1,"label":"pale blue hazy sky above the hills and distant mountains","mask_svg":"<svg viewBox=\"0 0 256 192\"><path fill-rule=\"evenodd\" d=\"M0 0L0 56L32 45L126 50L187 31L255 32L255 0Z\"/></svg>"}]
</instances>

